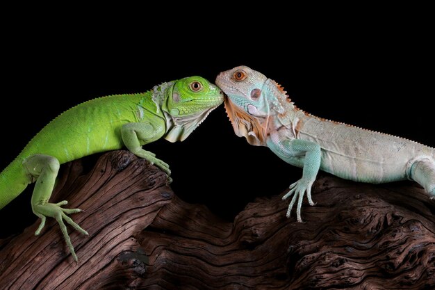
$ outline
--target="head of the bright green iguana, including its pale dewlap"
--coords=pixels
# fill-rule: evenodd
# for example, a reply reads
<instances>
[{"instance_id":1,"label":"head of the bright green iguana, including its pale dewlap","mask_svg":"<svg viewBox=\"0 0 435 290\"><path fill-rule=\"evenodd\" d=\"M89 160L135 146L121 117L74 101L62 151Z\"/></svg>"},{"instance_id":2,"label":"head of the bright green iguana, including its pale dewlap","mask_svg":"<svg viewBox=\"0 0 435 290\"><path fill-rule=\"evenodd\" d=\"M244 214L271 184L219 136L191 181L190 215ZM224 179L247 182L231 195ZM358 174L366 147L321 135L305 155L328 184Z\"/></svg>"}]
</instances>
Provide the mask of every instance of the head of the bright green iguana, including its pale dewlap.
<instances>
[{"instance_id":1,"label":"head of the bright green iguana, including its pale dewlap","mask_svg":"<svg viewBox=\"0 0 435 290\"><path fill-rule=\"evenodd\" d=\"M201 76L174 81L166 91L162 110L166 115L167 134L171 142L186 139L207 115L224 102L224 93Z\"/></svg>"}]
</instances>

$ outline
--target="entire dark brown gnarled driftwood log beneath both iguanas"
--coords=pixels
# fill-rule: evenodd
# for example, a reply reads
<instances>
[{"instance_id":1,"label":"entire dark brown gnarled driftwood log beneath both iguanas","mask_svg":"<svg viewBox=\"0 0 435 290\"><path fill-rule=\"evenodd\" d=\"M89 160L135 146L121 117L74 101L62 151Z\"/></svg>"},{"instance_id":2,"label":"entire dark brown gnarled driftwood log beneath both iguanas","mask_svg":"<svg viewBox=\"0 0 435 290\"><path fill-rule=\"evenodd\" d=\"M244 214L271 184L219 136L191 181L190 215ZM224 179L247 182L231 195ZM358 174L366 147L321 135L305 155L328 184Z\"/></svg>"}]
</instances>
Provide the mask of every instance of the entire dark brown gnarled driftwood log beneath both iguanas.
<instances>
[{"instance_id":1,"label":"entire dark brown gnarled driftwood log beneath both iguanas","mask_svg":"<svg viewBox=\"0 0 435 290\"><path fill-rule=\"evenodd\" d=\"M227 223L129 152L81 164L63 166L52 198L85 209L72 217L90 236L69 227L79 262L53 219L33 235L38 220L0 240L0 289L435 289L435 202L411 182L319 175L305 223L281 195Z\"/></svg>"}]
</instances>

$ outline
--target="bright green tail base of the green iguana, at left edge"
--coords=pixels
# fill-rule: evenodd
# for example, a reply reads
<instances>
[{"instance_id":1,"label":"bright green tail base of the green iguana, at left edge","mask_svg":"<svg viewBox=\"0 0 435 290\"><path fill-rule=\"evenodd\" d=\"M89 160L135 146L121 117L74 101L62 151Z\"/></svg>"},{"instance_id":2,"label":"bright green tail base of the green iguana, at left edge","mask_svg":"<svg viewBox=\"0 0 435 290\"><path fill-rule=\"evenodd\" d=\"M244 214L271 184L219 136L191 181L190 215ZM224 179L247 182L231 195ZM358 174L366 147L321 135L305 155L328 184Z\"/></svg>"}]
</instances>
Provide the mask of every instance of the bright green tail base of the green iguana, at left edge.
<instances>
[{"instance_id":1,"label":"bright green tail base of the green iguana, at left edge","mask_svg":"<svg viewBox=\"0 0 435 290\"><path fill-rule=\"evenodd\" d=\"M22 162L15 159L0 173L0 209L16 198L31 183Z\"/></svg>"}]
</instances>

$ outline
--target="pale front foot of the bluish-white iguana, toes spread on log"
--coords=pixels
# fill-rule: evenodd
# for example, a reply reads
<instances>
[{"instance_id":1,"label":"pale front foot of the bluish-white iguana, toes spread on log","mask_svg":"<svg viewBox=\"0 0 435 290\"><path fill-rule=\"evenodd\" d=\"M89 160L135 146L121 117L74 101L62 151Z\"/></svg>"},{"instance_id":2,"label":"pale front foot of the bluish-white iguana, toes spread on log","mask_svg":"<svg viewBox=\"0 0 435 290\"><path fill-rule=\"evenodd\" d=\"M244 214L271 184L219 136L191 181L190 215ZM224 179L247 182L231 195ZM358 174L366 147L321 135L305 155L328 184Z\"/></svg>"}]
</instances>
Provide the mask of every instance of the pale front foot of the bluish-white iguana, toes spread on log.
<instances>
[{"instance_id":1,"label":"pale front foot of the bluish-white iguana, toes spread on log","mask_svg":"<svg viewBox=\"0 0 435 290\"><path fill-rule=\"evenodd\" d=\"M304 200L304 193L306 192L306 198L308 198L308 202L311 206L313 206L315 203L313 202L313 200L311 199L311 186L313 185L313 182L311 180L307 180L307 179L299 179L297 182L295 182L294 184L291 184L289 186L290 191L288 191L288 193L286 193L282 200L286 200L287 198L289 198L291 195L293 195L292 200L290 201L290 204L288 204L288 210L287 210L287 218L290 218L290 212L293 209L293 205L295 205L296 199L297 199L297 209L296 209L296 216L297 216L297 221L299 223L302 223L302 218L301 218L301 208L302 208L302 201Z\"/></svg>"}]
</instances>

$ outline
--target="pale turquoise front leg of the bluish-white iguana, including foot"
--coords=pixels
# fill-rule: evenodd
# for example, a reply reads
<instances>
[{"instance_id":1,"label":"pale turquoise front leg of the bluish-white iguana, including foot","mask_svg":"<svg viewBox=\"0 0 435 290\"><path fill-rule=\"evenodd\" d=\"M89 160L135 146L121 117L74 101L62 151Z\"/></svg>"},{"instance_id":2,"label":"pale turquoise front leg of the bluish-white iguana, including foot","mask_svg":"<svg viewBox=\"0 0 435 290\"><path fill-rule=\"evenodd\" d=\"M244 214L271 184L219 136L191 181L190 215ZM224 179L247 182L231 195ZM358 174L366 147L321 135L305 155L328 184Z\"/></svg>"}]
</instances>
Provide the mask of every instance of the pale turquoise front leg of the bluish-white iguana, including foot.
<instances>
[{"instance_id":1,"label":"pale turquoise front leg of the bluish-white iguana, including foot","mask_svg":"<svg viewBox=\"0 0 435 290\"><path fill-rule=\"evenodd\" d=\"M302 222L301 208L305 193L309 204L314 205L311 198L311 186L313 186L320 168L320 145L308 140L289 139L286 137L286 131L275 131L270 134L267 144L270 150L277 154L279 158L294 166L303 168L302 178L291 184L290 191L282 198L286 200L293 195L290 204L288 204L287 217L290 217L290 212L297 200L297 221Z\"/></svg>"}]
</instances>

